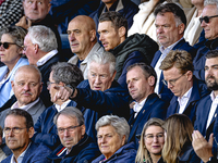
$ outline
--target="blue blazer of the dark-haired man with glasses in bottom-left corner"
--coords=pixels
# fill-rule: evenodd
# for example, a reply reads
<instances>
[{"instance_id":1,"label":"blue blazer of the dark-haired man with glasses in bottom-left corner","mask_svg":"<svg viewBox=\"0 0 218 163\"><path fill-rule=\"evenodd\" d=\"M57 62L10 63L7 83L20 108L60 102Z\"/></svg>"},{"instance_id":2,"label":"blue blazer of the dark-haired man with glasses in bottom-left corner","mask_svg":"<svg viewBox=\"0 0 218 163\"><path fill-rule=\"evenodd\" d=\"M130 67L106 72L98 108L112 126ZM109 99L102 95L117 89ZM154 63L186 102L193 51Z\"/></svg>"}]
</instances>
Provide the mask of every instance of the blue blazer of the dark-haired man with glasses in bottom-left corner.
<instances>
[{"instance_id":1,"label":"blue blazer of the dark-haired man with glasses in bottom-left corner","mask_svg":"<svg viewBox=\"0 0 218 163\"><path fill-rule=\"evenodd\" d=\"M32 142L24 154L22 163L51 163L51 161L47 159L50 153L51 150L48 147ZM1 163L10 163L11 156L12 154L1 161Z\"/></svg>"}]
</instances>

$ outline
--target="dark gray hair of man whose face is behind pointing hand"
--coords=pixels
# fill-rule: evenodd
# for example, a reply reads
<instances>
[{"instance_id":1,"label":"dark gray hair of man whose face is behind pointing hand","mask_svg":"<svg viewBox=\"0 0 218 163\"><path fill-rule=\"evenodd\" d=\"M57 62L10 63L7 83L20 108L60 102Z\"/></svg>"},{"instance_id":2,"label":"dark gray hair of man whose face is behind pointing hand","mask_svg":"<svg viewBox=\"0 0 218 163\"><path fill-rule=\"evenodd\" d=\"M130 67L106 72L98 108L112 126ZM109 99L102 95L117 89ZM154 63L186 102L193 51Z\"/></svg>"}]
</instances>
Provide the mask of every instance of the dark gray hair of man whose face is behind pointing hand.
<instances>
[{"instance_id":1,"label":"dark gray hair of man whose face is behind pointing hand","mask_svg":"<svg viewBox=\"0 0 218 163\"><path fill-rule=\"evenodd\" d=\"M76 65L68 62L58 62L51 66L51 72L52 79L57 84L62 82L73 88L84 80L82 71Z\"/></svg>"}]
</instances>

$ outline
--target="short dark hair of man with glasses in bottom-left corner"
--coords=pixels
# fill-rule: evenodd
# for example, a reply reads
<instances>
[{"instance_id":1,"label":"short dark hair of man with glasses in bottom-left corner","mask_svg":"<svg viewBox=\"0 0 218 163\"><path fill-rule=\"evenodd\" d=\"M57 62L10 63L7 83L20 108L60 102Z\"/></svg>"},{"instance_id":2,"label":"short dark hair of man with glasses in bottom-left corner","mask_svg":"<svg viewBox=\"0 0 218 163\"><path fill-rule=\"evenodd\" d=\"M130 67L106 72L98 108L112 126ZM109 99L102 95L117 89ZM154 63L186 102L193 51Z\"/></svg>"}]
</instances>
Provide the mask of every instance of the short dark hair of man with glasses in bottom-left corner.
<instances>
[{"instance_id":1,"label":"short dark hair of man with glasses in bottom-left corner","mask_svg":"<svg viewBox=\"0 0 218 163\"><path fill-rule=\"evenodd\" d=\"M22 116L22 117L25 117L26 120L26 128L31 128L31 127L34 127L34 121L33 121L33 117L32 115L26 112L25 110L21 110L21 109L13 109L13 110L10 110L8 113L7 113L7 116L9 115L14 115L14 116ZM5 116L5 117L7 117Z\"/></svg>"}]
</instances>

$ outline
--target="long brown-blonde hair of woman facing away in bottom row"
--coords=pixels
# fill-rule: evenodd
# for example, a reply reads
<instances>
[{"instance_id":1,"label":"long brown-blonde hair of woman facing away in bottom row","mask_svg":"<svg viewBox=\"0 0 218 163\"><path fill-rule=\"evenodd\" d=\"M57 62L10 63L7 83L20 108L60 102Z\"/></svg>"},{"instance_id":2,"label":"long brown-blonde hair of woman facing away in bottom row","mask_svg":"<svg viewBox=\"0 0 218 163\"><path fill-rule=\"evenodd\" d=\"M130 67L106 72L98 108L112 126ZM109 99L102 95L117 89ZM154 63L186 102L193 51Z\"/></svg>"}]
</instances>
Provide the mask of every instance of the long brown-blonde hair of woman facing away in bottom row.
<instances>
[{"instance_id":1,"label":"long brown-blonde hair of woman facing away in bottom row","mask_svg":"<svg viewBox=\"0 0 218 163\"><path fill-rule=\"evenodd\" d=\"M164 128L167 131L167 138L162 149L162 159L166 163L175 163L178 156L183 153L183 148L192 145L194 127L186 115L173 114L166 120Z\"/></svg>"}]
</instances>

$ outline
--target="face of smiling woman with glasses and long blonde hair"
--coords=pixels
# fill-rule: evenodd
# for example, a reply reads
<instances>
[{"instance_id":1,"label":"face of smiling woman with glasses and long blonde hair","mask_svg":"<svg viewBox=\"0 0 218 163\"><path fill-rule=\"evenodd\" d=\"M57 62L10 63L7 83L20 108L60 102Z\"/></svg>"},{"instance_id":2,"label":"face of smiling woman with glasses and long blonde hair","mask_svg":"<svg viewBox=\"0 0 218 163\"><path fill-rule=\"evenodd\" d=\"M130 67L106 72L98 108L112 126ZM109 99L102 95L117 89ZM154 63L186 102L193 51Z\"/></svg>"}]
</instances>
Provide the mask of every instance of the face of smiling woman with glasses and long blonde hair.
<instances>
[{"instance_id":1,"label":"face of smiling woman with glasses and long blonde hair","mask_svg":"<svg viewBox=\"0 0 218 163\"><path fill-rule=\"evenodd\" d=\"M165 143L165 130L159 126L149 126L145 130L144 142L150 154L161 155Z\"/></svg>"}]
</instances>

